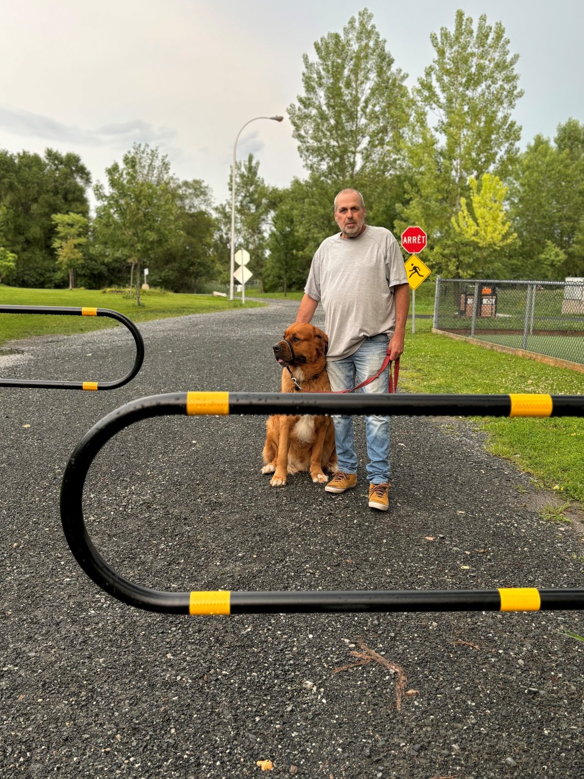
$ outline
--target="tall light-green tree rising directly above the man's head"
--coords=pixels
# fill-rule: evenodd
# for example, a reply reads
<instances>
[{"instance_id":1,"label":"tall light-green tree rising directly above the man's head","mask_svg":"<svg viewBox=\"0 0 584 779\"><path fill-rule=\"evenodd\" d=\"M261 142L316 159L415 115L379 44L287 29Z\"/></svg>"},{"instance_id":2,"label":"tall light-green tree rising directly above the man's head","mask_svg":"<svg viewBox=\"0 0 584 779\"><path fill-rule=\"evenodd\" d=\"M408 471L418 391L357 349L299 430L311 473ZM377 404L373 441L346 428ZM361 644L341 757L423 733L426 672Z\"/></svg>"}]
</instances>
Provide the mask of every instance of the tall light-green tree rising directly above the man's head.
<instances>
[{"instance_id":1,"label":"tall light-green tree rising directly above the man's head","mask_svg":"<svg viewBox=\"0 0 584 779\"><path fill-rule=\"evenodd\" d=\"M343 34L315 42L316 59L304 55L304 94L288 108L304 167L335 182L357 186L365 171L381 177L396 168L408 117L406 74L368 9L351 17Z\"/></svg>"}]
</instances>

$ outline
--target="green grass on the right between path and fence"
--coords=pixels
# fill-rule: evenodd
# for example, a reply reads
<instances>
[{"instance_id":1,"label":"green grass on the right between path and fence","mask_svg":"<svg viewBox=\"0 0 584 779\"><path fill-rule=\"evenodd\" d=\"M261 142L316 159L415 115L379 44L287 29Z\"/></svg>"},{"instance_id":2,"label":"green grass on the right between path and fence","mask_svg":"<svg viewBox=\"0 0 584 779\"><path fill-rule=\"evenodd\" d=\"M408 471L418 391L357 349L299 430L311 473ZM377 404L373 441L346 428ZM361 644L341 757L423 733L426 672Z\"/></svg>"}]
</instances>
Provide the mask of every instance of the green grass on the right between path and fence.
<instances>
[{"instance_id":1,"label":"green grass on the right between path and fence","mask_svg":"<svg viewBox=\"0 0 584 779\"><path fill-rule=\"evenodd\" d=\"M410 325L408 325L410 330ZM431 333L431 320L408 332L401 386L422 393L582 394L584 375ZM584 501L584 419L475 418L488 449L537 477L544 487Z\"/></svg>"}]
</instances>

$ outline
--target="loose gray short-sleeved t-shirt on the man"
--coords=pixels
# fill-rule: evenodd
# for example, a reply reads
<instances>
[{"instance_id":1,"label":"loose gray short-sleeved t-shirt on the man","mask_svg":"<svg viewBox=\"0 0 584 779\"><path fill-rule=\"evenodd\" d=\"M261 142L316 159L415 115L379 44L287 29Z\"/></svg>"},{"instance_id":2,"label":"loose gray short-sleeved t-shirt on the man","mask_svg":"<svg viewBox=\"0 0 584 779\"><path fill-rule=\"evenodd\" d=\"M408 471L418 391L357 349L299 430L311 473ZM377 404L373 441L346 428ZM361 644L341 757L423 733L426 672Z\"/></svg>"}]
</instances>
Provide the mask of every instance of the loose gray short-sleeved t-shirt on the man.
<instances>
[{"instance_id":1,"label":"loose gray short-sleeved t-shirt on the man","mask_svg":"<svg viewBox=\"0 0 584 779\"><path fill-rule=\"evenodd\" d=\"M399 245L385 227L368 225L357 238L337 233L322 241L304 292L325 310L328 360L348 357L368 337L392 337L396 284L407 284L406 269Z\"/></svg>"}]
</instances>

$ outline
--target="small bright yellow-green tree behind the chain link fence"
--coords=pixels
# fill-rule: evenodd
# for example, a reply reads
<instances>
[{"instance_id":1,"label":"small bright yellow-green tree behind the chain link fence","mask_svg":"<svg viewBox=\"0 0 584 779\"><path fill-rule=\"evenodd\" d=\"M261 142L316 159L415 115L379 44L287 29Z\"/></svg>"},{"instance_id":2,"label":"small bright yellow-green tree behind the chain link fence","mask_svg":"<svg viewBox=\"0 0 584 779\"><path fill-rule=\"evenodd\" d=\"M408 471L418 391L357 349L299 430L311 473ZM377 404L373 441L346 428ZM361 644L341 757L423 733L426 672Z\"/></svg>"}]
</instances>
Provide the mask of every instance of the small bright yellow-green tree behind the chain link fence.
<instances>
[{"instance_id":1,"label":"small bright yellow-green tree behind the chain link fence","mask_svg":"<svg viewBox=\"0 0 584 779\"><path fill-rule=\"evenodd\" d=\"M472 210L466 206L466 198L460 199L460 210L456 217L452 217L452 227L462 238L480 247L479 263L473 263L470 275L482 277L501 275L500 266L494 262L486 269L487 258L494 259L498 249L506 246L517 238L516 233L510 233L511 222L507 220L503 202L507 194L507 187L503 185L498 176L484 173L480 179L480 191L476 178L471 176L470 200Z\"/></svg>"}]
</instances>

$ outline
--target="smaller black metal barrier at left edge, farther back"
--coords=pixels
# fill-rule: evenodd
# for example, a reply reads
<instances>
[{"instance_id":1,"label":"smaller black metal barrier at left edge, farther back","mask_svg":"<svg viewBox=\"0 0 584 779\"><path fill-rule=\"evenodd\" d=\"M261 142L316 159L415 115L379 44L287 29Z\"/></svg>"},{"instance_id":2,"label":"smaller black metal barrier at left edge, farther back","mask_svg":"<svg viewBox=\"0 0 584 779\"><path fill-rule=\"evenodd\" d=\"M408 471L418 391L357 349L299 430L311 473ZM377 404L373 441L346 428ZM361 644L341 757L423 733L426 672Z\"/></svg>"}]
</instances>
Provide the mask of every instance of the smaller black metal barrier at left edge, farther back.
<instances>
[{"instance_id":1,"label":"smaller black metal barrier at left edge, farther back","mask_svg":"<svg viewBox=\"0 0 584 779\"><path fill-rule=\"evenodd\" d=\"M0 314L58 314L65 316L108 316L128 328L135 341L135 361L132 370L115 382L57 382L45 379L2 379L0 387L40 387L44 390L116 390L132 381L144 361L144 341L135 324L118 311L109 308L69 308L57 305L0 305Z\"/></svg>"}]
</instances>

